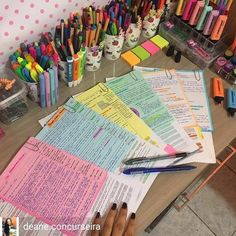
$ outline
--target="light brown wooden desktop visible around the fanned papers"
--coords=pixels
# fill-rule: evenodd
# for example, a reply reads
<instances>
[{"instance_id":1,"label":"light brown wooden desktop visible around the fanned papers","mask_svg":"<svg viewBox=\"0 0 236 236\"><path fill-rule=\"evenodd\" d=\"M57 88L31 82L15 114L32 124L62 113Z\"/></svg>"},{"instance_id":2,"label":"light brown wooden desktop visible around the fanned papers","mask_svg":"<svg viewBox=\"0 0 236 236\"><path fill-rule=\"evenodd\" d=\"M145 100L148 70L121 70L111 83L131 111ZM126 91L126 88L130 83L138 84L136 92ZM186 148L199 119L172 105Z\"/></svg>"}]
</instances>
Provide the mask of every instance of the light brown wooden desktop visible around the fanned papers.
<instances>
[{"instance_id":1,"label":"light brown wooden desktop visible around the fanned papers","mask_svg":"<svg viewBox=\"0 0 236 236\"><path fill-rule=\"evenodd\" d=\"M181 63L176 64L173 59L166 57L163 52L152 56L141 63L140 66L167 69L197 69L186 58L182 58ZM41 130L38 123L39 119L54 111L57 106L62 105L70 95L85 91L98 82L104 82L106 77L119 76L130 70L131 68L122 59L115 62L103 59L100 70L86 72L79 86L68 88L61 82L60 101L57 105L41 109L37 104L28 100L29 112L23 118L11 125L1 124L6 135L0 140L0 172L3 171L24 142ZM209 69L205 70L204 74L210 95L210 78L214 77L215 74ZM226 82L224 82L224 85L229 87ZM225 109L214 105L212 99L210 99L210 105L214 125L213 139L215 151L218 154L235 137L235 118L228 117ZM137 212L136 233L143 231L207 167L206 164L197 164L197 166L197 170L193 172L160 174L156 178Z\"/></svg>"}]
</instances>

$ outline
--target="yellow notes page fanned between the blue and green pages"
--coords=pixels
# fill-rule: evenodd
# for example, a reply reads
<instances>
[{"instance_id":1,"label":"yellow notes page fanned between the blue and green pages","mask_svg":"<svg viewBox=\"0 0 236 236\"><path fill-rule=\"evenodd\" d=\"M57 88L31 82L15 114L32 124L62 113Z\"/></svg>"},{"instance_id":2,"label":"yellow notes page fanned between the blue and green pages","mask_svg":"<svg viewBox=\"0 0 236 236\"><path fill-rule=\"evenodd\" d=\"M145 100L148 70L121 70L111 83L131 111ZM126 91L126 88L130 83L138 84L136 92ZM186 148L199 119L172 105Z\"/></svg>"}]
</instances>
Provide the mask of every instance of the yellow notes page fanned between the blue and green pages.
<instances>
[{"instance_id":1,"label":"yellow notes page fanned between the blue and green pages","mask_svg":"<svg viewBox=\"0 0 236 236\"><path fill-rule=\"evenodd\" d=\"M99 83L74 98L122 128L158 146L159 140L153 135L153 131L105 84Z\"/></svg>"}]
</instances>

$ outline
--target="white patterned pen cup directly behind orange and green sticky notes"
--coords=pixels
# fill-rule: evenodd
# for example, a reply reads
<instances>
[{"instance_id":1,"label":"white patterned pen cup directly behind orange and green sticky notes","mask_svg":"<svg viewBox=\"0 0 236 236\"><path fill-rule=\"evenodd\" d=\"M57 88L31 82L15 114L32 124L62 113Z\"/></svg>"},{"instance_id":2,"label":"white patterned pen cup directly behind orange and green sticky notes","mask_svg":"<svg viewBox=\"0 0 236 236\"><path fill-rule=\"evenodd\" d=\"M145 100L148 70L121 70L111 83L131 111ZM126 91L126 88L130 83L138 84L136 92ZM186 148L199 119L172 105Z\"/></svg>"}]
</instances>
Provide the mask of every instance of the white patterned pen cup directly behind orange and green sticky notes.
<instances>
[{"instance_id":1,"label":"white patterned pen cup directly behind orange and green sticky notes","mask_svg":"<svg viewBox=\"0 0 236 236\"><path fill-rule=\"evenodd\" d=\"M137 23L130 24L125 35L126 48L133 48L138 44L141 30L142 30L141 19Z\"/></svg>"}]
</instances>

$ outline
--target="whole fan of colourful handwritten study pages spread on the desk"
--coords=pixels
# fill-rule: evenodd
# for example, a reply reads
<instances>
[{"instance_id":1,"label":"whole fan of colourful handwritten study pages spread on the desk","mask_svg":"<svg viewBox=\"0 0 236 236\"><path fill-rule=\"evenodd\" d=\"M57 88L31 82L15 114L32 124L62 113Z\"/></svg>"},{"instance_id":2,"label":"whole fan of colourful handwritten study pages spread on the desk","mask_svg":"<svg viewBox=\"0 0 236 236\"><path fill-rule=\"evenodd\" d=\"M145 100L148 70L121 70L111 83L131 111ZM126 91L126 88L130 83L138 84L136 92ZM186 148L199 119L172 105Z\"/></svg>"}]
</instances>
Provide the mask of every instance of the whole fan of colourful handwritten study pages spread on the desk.
<instances>
[{"instance_id":1,"label":"whole fan of colourful handwritten study pages spread on the desk","mask_svg":"<svg viewBox=\"0 0 236 236\"><path fill-rule=\"evenodd\" d=\"M40 124L0 176L0 215L90 224L113 202L136 212L158 172L216 161L200 70L134 67L71 97ZM86 235L81 227L59 231Z\"/></svg>"}]
</instances>

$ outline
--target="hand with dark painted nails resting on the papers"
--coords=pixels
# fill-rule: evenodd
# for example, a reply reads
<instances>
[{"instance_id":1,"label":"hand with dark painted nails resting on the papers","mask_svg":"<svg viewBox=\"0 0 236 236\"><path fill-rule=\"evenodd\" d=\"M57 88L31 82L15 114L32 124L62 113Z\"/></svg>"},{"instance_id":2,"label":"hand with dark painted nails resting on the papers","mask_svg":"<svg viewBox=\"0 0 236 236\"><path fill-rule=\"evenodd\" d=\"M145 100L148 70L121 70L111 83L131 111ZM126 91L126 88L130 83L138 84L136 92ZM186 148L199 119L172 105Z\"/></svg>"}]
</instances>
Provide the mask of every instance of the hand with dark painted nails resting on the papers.
<instances>
[{"instance_id":1,"label":"hand with dark painted nails resting on the papers","mask_svg":"<svg viewBox=\"0 0 236 236\"><path fill-rule=\"evenodd\" d=\"M127 204L124 202L119 211L113 203L102 227L102 219L98 212L93 224L100 225L100 231L94 230L91 236L134 236L135 214L132 213L126 226ZM126 226L126 227L125 227Z\"/></svg>"}]
</instances>

